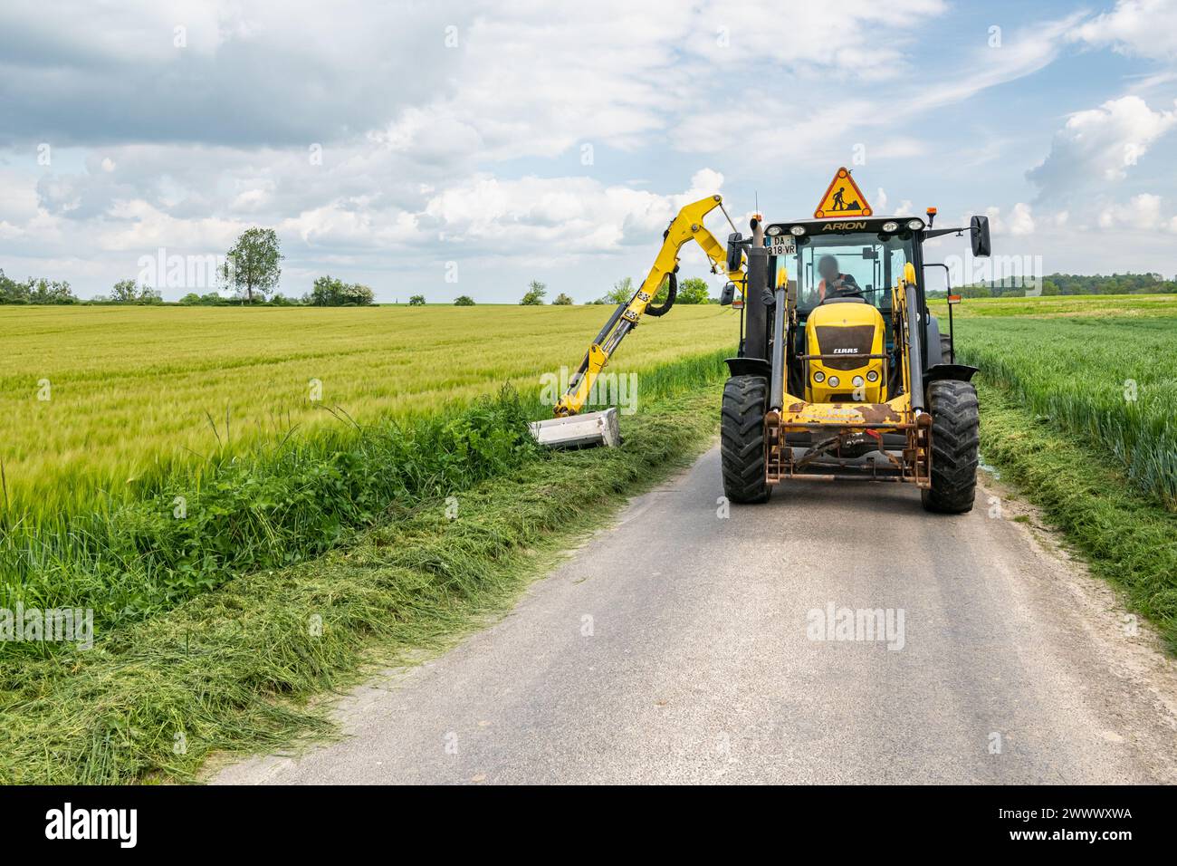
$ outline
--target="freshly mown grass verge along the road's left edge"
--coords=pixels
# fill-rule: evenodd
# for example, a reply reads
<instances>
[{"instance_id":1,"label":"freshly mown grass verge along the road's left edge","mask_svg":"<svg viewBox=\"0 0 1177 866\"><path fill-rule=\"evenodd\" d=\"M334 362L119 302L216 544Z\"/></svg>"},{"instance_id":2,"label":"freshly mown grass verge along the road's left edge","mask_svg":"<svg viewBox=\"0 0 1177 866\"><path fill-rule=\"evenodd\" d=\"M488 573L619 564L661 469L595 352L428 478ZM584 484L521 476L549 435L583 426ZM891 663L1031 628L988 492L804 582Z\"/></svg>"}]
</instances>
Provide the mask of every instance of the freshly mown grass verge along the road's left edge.
<instances>
[{"instance_id":1,"label":"freshly mown grass verge along the road's left edge","mask_svg":"<svg viewBox=\"0 0 1177 866\"><path fill-rule=\"evenodd\" d=\"M0 782L185 781L213 752L330 735L315 696L506 609L570 540L689 463L718 401L696 383L623 418L621 448L474 484L454 520L453 498L424 500L319 560L235 577L89 650L0 661Z\"/></svg>"}]
</instances>

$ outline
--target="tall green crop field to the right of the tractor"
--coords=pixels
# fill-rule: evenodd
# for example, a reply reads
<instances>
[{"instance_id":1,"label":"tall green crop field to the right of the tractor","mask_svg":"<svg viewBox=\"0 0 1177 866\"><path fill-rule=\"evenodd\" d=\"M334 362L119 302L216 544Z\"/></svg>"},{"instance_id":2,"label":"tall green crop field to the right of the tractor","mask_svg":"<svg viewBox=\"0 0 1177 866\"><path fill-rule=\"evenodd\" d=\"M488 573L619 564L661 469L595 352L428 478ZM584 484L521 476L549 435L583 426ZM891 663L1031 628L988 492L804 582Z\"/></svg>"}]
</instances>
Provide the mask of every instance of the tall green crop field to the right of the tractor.
<instances>
[{"instance_id":1,"label":"tall green crop field to the right of the tractor","mask_svg":"<svg viewBox=\"0 0 1177 866\"><path fill-rule=\"evenodd\" d=\"M1177 509L1177 317L966 318L957 350Z\"/></svg>"}]
</instances>

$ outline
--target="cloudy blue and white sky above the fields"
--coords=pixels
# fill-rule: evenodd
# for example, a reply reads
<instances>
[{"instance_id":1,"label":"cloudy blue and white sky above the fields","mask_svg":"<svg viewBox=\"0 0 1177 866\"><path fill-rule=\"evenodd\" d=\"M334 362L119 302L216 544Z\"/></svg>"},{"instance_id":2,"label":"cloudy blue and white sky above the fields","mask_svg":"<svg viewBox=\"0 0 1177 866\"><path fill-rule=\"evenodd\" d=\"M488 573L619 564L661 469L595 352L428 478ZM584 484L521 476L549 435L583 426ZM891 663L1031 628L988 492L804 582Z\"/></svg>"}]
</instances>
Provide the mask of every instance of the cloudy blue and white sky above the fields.
<instances>
[{"instance_id":1,"label":"cloudy blue and white sky above the fields","mask_svg":"<svg viewBox=\"0 0 1177 866\"><path fill-rule=\"evenodd\" d=\"M804 216L839 165L1045 272L1177 273L1177 0L5 0L0 65L0 267L82 297L261 225L287 295L588 300L683 203Z\"/></svg>"}]
</instances>

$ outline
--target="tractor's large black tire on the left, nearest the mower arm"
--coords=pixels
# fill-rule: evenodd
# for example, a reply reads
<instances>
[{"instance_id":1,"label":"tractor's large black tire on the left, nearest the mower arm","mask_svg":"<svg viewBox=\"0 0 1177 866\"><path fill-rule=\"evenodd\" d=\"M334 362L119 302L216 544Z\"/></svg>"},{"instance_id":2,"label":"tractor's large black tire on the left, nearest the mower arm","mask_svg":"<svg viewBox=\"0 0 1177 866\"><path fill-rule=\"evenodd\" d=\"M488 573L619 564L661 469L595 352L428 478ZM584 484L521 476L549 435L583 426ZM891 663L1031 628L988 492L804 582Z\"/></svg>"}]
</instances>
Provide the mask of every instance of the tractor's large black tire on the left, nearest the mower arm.
<instances>
[{"instance_id":1,"label":"tractor's large black tire on the left, nearest the mower arm","mask_svg":"<svg viewBox=\"0 0 1177 866\"><path fill-rule=\"evenodd\" d=\"M772 495L772 488L764 481L767 396L769 381L764 376L732 376L724 385L719 455L724 496L729 502L767 502Z\"/></svg>"}]
</instances>

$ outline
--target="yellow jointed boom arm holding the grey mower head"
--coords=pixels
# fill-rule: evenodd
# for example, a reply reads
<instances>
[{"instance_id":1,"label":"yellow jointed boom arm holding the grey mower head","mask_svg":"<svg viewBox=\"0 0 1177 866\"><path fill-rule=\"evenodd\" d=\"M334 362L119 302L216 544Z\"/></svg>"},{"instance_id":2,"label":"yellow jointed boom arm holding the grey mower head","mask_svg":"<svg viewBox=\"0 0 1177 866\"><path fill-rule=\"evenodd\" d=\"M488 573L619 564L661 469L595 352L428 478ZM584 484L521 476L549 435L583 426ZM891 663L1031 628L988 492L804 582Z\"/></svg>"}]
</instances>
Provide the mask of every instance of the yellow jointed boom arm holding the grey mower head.
<instances>
[{"instance_id":1,"label":"yellow jointed boom arm holding the grey mower head","mask_svg":"<svg viewBox=\"0 0 1177 866\"><path fill-rule=\"evenodd\" d=\"M703 225L703 218L716 207L720 206L720 196L710 196L686 205L671 220L670 227L663 234L661 250L654 259L653 267L650 269L645 282L630 298L629 304L618 305L609 322L597 335L597 339L588 346L588 352L580 362L580 369L568 382L568 390L559 403L556 404L557 417L576 415L585 403L592 391L593 383L600 371L609 363L609 359L617 351L617 346L630 331L638 326L638 320L646 311L650 302L653 300L659 286L673 272L678 270L678 252L689 240L694 240L711 259L712 273L726 273L727 278L736 284L740 295L744 295L745 275L742 266L734 271L727 270L727 250L720 244L716 236Z\"/></svg>"}]
</instances>

